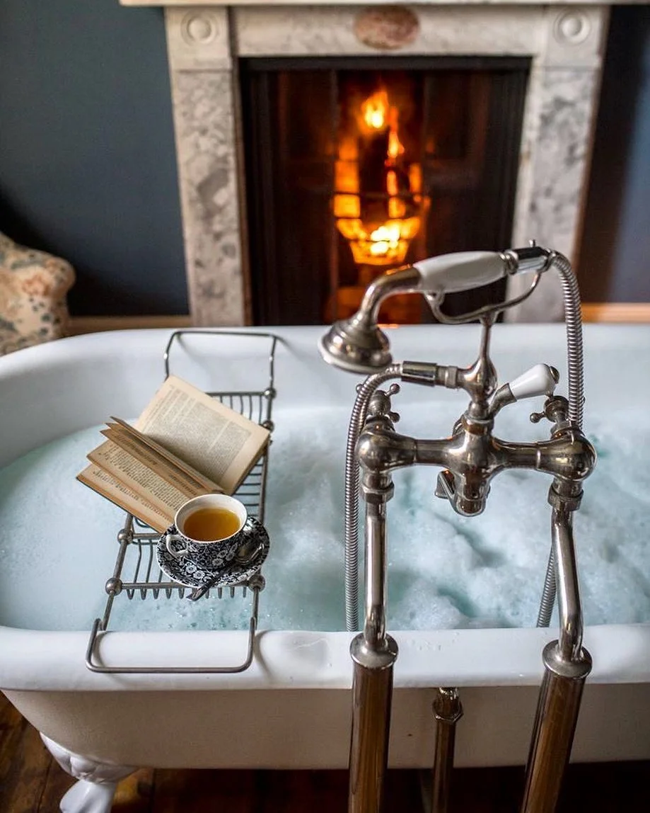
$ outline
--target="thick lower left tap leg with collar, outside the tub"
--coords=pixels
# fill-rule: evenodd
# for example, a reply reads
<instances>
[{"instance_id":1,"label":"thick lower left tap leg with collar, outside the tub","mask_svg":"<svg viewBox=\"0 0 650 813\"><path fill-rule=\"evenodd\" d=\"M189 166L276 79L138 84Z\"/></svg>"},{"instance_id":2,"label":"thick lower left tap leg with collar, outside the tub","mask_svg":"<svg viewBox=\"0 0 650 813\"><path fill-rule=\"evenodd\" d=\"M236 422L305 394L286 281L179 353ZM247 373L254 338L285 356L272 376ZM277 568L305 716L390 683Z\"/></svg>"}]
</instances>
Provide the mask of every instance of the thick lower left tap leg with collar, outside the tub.
<instances>
[{"instance_id":1,"label":"thick lower left tap leg with collar, outside the tub","mask_svg":"<svg viewBox=\"0 0 650 813\"><path fill-rule=\"evenodd\" d=\"M348 813L378 813L384 789L390 706L393 698L393 664L397 643L385 637L385 649L373 650L363 634L351 644L355 662L352 683L352 736Z\"/></svg>"}]
</instances>

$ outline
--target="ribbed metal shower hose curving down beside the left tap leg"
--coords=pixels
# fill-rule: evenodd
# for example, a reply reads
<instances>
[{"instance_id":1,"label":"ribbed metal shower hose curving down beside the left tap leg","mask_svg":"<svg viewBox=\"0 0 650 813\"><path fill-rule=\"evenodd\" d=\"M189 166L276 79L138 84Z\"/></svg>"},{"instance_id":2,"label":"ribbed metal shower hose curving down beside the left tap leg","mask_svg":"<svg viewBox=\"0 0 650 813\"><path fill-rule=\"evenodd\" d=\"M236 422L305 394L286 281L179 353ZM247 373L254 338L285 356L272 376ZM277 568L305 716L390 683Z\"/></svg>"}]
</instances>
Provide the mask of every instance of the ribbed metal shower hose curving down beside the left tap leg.
<instances>
[{"instance_id":1,"label":"ribbed metal shower hose curving down beside the left tap leg","mask_svg":"<svg viewBox=\"0 0 650 813\"><path fill-rule=\"evenodd\" d=\"M346 629L349 633L359 629L359 462L355 454L356 442L366 420L372 393L384 381L399 378L401 375L401 364L389 364L381 372L369 376L359 386L355 406L352 407L347 432L345 476Z\"/></svg>"}]
</instances>

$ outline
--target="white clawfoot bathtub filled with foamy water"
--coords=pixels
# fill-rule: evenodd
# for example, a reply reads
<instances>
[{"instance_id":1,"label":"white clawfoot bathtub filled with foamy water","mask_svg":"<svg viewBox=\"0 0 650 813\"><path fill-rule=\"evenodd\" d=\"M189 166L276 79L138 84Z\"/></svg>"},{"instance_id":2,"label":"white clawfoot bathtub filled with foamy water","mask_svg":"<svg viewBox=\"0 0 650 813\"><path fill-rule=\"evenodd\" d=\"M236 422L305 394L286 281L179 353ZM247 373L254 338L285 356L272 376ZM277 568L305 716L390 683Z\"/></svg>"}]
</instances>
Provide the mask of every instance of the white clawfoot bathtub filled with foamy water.
<instances>
[{"instance_id":1,"label":"white clawfoot bathtub filled with foamy water","mask_svg":"<svg viewBox=\"0 0 650 813\"><path fill-rule=\"evenodd\" d=\"M287 405L306 411L315 404L351 408L359 378L321 361L316 340L322 332L273 329L280 337L276 420L282 420ZM161 354L169 335L165 330L100 333L0 359L0 467L54 438L102 424L109 415L137 415L161 383ZM588 431L593 411L610 415L615 425L622 401L647 406L650 377L639 376L639 359L647 358L650 326L588 325L584 338ZM478 328L397 328L390 330L390 341L395 359L464 366L476 354ZM500 381L544 361L560 369L566 387L564 341L562 325L497 325L493 360ZM206 389L213 376L220 385L237 385L250 360L247 341L238 347L189 337L174 372ZM434 402L449 397L446 391L426 393ZM540 408L537 402L531 406ZM629 429L621 427L622 432ZM444 437L449 428L439 431ZM341 466L341 488L342 478ZM12 530L4 527L0 533L8 536ZM24 590L30 589L28 573L3 568L0 590L6 579L19 585L23 580ZM540 585L541 580L543 573ZM61 582L58 590L75 589ZM347 766L350 633L260 628L252 666L241 674L97 674L84 665L92 621L89 616L83 630L34 630L20 620L6 624L0 603L0 624L6 624L0 626L0 688L73 775L110 784L132 767L144 766ZM390 632L399 646L391 767L430 767L431 702L433 689L441 685L458 686L462 693L456 765L525 762L541 650L557 637L553 628ZM98 657L109 665L214 666L240 659L246 641L247 633L240 631L114 632L101 638ZM650 759L650 625L588 626L584 641L594 666L572 759ZM66 754L79 759L75 763ZM75 808L70 803L67 809Z\"/></svg>"}]
</instances>

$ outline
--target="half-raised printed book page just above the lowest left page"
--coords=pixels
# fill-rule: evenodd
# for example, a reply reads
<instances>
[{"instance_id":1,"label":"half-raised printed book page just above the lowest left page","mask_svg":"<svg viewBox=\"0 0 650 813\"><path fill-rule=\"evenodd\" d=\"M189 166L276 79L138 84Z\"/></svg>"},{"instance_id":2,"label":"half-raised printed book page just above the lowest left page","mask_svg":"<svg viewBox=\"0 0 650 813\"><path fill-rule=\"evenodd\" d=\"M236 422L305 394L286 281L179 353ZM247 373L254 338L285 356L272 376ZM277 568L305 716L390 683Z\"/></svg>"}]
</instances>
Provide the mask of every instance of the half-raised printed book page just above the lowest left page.
<instances>
[{"instance_id":1,"label":"half-raised printed book page just above the lowest left page","mask_svg":"<svg viewBox=\"0 0 650 813\"><path fill-rule=\"evenodd\" d=\"M171 515L172 519L183 502L205 493L200 486L177 488L112 441L105 441L97 449L93 449L88 454L88 460L104 469L127 489L143 495L146 502L157 511Z\"/></svg>"}]
</instances>

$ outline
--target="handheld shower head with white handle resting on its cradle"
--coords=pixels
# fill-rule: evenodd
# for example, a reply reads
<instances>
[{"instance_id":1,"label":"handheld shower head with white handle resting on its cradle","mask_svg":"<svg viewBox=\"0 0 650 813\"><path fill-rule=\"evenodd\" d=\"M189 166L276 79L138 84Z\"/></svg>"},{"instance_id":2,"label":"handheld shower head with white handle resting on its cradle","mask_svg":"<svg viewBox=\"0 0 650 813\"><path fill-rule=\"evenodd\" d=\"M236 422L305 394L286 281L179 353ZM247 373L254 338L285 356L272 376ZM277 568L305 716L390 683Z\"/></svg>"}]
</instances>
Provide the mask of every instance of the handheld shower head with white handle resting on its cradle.
<instances>
[{"instance_id":1,"label":"handheld shower head with white handle resting on its cradle","mask_svg":"<svg viewBox=\"0 0 650 813\"><path fill-rule=\"evenodd\" d=\"M507 274L544 271L548 262L549 251L530 246L501 254L497 251L441 254L385 272L368 286L355 315L329 328L319 342L319 350L327 363L342 370L377 372L392 361L388 338L377 327L379 307L385 298L413 291L465 291L488 285Z\"/></svg>"}]
</instances>

